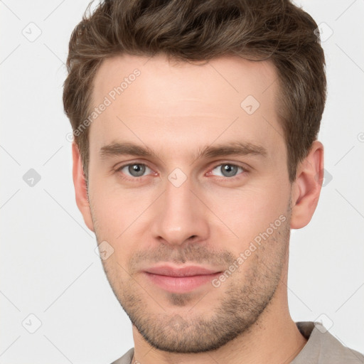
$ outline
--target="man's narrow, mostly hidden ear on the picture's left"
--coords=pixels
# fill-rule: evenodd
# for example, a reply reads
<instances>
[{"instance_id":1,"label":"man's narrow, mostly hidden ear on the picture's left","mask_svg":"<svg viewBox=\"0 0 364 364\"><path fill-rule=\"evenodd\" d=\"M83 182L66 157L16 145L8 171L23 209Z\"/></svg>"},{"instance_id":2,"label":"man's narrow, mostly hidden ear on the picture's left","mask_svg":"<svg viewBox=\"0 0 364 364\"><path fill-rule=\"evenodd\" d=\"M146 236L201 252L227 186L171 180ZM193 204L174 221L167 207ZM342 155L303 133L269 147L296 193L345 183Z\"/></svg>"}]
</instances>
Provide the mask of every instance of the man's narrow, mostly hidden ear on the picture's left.
<instances>
[{"instance_id":1,"label":"man's narrow, mostly hidden ear on the picture's left","mask_svg":"<svg viewBox=\"0 0 364 364\"><path fill-rule=\"evenodd\" d=\"M83 220L85 220L87 228L89 228L91 231L95 231L94 225L92 223L90 203L87 198L87 186L86 186L85 175L83 173L80 151L78 149L77 144L75 144L75 141L73 141L72 144L72 157L73 157L73 184L75 185L77 207L82 213Z\"/></svg>"}]
</instances>

